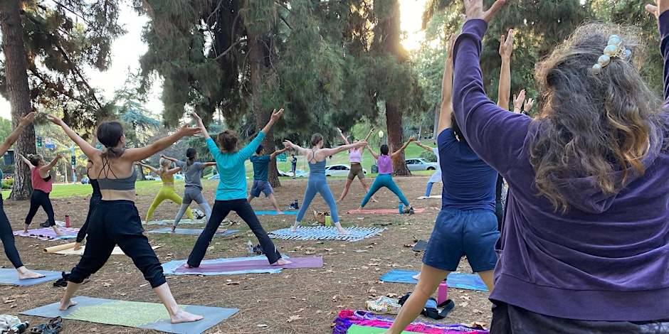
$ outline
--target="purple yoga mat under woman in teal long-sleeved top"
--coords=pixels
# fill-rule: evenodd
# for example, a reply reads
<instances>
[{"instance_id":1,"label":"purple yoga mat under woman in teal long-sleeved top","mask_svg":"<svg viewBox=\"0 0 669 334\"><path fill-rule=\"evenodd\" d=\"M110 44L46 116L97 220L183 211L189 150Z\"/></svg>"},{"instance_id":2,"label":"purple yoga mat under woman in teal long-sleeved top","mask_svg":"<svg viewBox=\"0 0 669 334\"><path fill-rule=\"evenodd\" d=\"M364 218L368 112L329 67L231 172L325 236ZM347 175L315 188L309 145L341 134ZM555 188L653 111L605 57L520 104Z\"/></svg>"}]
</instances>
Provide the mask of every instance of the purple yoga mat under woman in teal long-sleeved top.
<instances>
[{"instance_id":1,"label":"purple yoga mat under woman in teal long-sleeved top","mask_svg":"<svg viewBox=\"0 0 669 334\"><path fill-rule=\"evenodd\" d=\"M223 262L212 264L201 264L199 268L185 268L179 266L175 272L190 272L190 273L211 273L211 272L226 272L226 271L242 271L251 269L282 269L282 268L320 268L323 266L322 257L291 257L288 259L291 264L285 266L271 266L267 259L246 260L235 262Z\"/></svg>"}]
</instances>

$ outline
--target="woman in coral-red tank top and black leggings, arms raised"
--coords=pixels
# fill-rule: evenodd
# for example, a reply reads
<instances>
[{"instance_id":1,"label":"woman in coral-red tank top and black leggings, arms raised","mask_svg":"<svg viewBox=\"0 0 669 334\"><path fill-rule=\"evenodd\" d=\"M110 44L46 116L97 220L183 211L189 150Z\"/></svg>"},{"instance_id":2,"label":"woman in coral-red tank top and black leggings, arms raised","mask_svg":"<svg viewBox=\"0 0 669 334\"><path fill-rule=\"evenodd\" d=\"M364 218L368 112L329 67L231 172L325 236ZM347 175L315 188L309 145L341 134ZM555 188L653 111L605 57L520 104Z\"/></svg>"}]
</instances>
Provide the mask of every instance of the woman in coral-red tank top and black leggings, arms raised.
<instances>
[{"instance_id":1,"label":"woman in coral-red tank top and black leggings, arms raised","mask_svg":"<svg viewBox=\"0 0 669 334\"><path fill-rule=\"evenodd\" d=\"M33 193L30 196L30 210L28 210L26 222L23 225L23 233L28 233L28 227L30 227L30 223L33 222L33 217L35 217L39 207L42 207L44 212L46 212L48 225L40 225L53 228L53 232L55 232L56 235L65 235L65 233L58 230L56 219L53 217L53 206L51 205L51 200L49 199L49 193L51 193L51 188L53 187L53 180L51 178L51 173L49 172L53 166L56 166L58 160L63 158L63 155L57 153L56 158L53 158L51 163L48 163L48 165L44 163L44 159L42 158L41 154L28 154L28 158L19 154L19 158L21 158L21 160L23 160L23 162L30 167L33 184Z\"/></svg>"}]
</instances>

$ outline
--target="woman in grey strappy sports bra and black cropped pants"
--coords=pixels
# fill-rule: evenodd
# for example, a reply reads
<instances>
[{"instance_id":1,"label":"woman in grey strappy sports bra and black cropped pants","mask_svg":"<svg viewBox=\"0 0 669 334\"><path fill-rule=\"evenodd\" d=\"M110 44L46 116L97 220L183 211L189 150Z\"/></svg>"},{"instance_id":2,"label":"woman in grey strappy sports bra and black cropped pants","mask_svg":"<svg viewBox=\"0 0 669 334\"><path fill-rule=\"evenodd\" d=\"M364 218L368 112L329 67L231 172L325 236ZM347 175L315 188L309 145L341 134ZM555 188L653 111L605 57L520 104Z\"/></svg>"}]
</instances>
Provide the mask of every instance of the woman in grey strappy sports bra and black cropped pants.
<instances>
[{"instance_id":1,"label":"woman in grey strappy sports bra and black cropped pants","mask_svg":"<svg viewBox=\"0 0 669 334\"><path fill-rule=\"evenodd\" d=\"M174 300L160 261L151 248L149 239L142 234L144 228L134 202L137 180L135 161L167 149L184 136L194 136L200 132L200 128L184 124L174 134L154 141L149 146L125 149L125 134L120 122L103 122L98 126L98 141L105 146L102 151L90 146L58 117L48 115L47 119L62 127L70 139L93 161L91 169L93 174L98 176L102 193L102 200L90 217L86 248L79 263L72 269L68 286L65 288L63 298L60 299L60 311L77 304L72 301L73 294L84 279L105 265L115 245L118 244L149 281L154 293L167 308L170 322L186 323L201 320L202 316L182 310Z\"/></svg>"}]
</instances>

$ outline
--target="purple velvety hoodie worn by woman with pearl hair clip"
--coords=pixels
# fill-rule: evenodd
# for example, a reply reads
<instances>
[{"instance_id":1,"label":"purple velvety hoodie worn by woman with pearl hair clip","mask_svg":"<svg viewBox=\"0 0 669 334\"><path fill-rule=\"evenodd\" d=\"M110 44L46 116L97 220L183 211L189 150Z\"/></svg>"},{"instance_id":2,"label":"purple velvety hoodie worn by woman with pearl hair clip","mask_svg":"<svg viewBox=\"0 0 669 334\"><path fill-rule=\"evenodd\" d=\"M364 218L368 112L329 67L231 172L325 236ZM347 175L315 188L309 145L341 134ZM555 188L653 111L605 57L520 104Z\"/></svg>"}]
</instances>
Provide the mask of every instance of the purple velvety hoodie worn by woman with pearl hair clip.
<instances>
[{"instance_id":1,"label":"purple velvety hoodie worn by woman with pearl hair clip","mask_svg":"<svg viewBox=\"0 0 669 334\"><path fill-rule=\"evenodd\" d=\"M643 159L646 173L631 176L615 194L602 193L592 178L562 180L571 208L555 212L534 186L528 143L537 124L500 109L483 92L479 63L487 28L483 20L467 21L455 42L453 108L470 146L509 183L490 299L559 318L669 318L668 149L653 146ZM668 87L667 13L660 33ZM662 118L666 124L669 118ZM669 137L666 130L656 133L660 143Z\"/></svg>"}]
</instances>

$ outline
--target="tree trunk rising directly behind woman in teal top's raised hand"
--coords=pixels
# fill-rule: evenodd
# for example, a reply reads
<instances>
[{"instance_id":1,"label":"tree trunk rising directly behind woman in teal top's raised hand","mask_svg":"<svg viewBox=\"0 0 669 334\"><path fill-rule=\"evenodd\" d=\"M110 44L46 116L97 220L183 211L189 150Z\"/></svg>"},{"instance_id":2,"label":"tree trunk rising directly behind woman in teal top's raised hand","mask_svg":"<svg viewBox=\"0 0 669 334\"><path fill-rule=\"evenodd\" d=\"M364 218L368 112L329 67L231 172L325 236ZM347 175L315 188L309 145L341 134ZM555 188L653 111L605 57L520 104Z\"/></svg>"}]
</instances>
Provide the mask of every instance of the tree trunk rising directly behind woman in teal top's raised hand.
<instances>
[{"instance_id":1,"label":"tree trunk rising directly behind woman in teal top's raised hand","mask_svg":"<svg viewBox=\"0 0 669 334\"><path fill-rule=\"evenodd\" d=\"M270 41L260 41L260 37L248 34L248 59L251 68L251 92L253 92L253 109L256 110L256 130L260 131L269 122L273 107L263 105L260 101L261 88L265 82L268 91L272 91L276 84L276 75L273 70L265 66L266 60L271 57L271 50L266 45L273 45ZM265 154L275 151L274 130L270 129L265 134L262 145L265 147ZM280 187L279 173L276 169L276 159L270 160L267 172L267 181L274 188Z\"/></svg>"}]
</instances>

